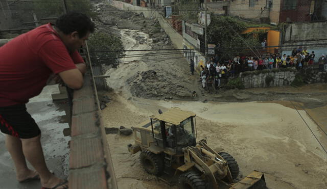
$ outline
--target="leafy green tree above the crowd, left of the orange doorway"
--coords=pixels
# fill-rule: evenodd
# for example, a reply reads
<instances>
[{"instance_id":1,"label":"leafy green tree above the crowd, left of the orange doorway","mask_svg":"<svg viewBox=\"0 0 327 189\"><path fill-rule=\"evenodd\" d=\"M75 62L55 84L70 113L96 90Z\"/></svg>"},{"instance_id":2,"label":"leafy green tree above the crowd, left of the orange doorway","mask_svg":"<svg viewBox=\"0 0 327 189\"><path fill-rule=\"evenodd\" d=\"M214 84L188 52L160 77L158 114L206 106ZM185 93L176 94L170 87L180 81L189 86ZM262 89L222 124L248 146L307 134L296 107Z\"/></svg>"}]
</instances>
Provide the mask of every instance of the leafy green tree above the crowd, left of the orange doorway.
<instances>
[{"instance_id":1,"label":"leafy green tree above the crowd, left of the orange doorway","mask_svg":"<svg viewBox=\"0 0 327 189\"><path fill-rule=\"evenodd\" d=\"M253 35L240 36L240 33L247 28L247 25L230 16L211 16L211 23L208 26L208 42L220 44L222 58L232 58L238 53L248 52L247 44L252 48L260 46L258 37ZM244 47L240 49L240 47Z\"/></svg>"}]
</instances>

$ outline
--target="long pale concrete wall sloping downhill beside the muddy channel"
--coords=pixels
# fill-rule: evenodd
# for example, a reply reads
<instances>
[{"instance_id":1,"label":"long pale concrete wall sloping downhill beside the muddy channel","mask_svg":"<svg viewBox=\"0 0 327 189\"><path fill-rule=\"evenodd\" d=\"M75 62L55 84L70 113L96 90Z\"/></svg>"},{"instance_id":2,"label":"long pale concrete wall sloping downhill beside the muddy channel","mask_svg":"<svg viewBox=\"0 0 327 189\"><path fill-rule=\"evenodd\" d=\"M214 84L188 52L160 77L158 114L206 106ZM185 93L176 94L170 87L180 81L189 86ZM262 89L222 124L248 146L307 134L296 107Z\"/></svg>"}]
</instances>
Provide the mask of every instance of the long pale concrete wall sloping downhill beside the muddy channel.
<instances>
[{"instance_id":1,"label":"long pale concrete wall sloping downhill beside the muddy channel","mask_svg":"<svg viewBox=\"0 0 327 189\"><path fill-rule=\"evenodd\" d=\"M184 40L183 36L180 35L173 27L166 21L163 15L159 14L159 11L152 10L146 7L137 7L120 1L113 1L111 6L125 11L133 11L136 13L143 13L144 17L150 19L157 19L162 29L165 30L166 34L170 37L171 41L177 49L194 49L191 43L187 40ZM191 37L191 36L190 36ZM198 50L186 50L184 51L184 57L187 61L190 59L194 60L195 67L204 65L204 57Z\"/></svg>"}]
</instances>

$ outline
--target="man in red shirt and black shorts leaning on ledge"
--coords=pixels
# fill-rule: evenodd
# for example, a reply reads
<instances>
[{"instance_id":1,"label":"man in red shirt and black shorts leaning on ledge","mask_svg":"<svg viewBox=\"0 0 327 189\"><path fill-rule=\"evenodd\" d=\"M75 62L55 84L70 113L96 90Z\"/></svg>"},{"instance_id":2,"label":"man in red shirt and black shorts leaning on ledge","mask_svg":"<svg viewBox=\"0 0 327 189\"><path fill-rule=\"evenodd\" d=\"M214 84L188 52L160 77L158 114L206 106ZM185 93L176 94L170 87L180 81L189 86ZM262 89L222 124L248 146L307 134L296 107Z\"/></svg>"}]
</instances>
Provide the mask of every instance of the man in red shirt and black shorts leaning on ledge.
<instances>
[{"instance_id":1,"label":"man in red shirt and black shorts leaning on ledge","mask_svg":"<svg viewBox=\"0 0 327 189\"><path fill-rule=\"evenodd\" d=\"M41 25L0 47L0 130L6 134L6 147L20 182L39 176L45 188L67 188L66 181L46 167L41 131L25 104L42 91L52 74L69 88L83 86L86 66L77 49L94 27L84 14L68 13L55 25ZM26 159L36 171L27 167Z\"/></svg>"}]
</instances>

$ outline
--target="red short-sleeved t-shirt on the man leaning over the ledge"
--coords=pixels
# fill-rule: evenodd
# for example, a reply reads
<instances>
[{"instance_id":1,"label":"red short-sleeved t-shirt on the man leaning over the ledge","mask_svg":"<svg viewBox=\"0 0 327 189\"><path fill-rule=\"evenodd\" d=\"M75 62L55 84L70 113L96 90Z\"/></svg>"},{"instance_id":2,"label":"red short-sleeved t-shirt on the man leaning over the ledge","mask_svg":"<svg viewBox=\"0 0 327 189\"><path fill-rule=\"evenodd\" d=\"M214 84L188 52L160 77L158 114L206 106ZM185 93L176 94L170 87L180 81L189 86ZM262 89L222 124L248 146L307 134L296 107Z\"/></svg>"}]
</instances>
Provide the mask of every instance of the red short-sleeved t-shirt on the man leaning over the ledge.
<instances>
[{"instance_id":1,"label":"red short-sleeved t-shirt on the man leaning over the ledge","mask_svg":"<svg viewBox=\"0 0 327 189\"><path fill-rule=\"evenodd\" d=\"M50 23L14 38L0 47L0 107L27 103L52 73L82 62L77 51L69 54Z\"/></svg>"}]
</instances>

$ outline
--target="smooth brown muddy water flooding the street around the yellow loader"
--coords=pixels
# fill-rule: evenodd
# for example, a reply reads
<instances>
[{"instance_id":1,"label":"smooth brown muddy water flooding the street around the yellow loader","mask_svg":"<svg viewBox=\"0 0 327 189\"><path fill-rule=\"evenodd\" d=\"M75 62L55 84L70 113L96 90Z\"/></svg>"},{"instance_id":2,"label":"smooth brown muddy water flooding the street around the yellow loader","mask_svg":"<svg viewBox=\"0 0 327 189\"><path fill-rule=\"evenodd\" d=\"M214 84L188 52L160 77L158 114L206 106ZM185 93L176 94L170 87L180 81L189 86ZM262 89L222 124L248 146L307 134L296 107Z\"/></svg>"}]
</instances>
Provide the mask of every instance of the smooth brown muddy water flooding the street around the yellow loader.
<instances>
[{"instance_id":1,"label":"smooth brown muddy water flooding the street around the yellow loader","mask_svg":"<svg viewBox=\"0 0 327 189\"><path fill-rule=\"evenodd\" d=\"M326 184L327 156L294 109L276 103L126 100L121 94L108 95L113 100L103 110L107 127L130 127L158 109L179 107L197 114L198 139L206 137L209 145L232 154L241 175L262 171L269 188L321 188ZM317 128L306 114L300 114L312 130ZM108 134L107 139L122 188L169 187L142 169L139 153L128 153L126 145L133 142L132 137Z\"/></svg>"}]
</instances>

